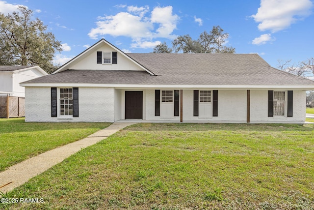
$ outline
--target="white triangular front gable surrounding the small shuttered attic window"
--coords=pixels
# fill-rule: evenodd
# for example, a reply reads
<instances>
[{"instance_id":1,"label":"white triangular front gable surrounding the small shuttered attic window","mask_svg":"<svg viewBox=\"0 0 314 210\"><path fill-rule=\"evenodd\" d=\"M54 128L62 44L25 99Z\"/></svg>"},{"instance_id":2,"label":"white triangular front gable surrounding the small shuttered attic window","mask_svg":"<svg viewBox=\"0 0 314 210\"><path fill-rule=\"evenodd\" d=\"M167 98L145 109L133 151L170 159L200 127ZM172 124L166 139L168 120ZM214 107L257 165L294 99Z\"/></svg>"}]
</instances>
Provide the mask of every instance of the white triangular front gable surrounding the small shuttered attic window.
<instances>
[{"instance_id":1,"label":"white triangular front gable surrounding the small shuttered attic window","mask_svg":"<svg viewBox=\"0 0 314 210\"><path fill-rule=\"evenodd\" d=\"M117 52L118 54L118 64L97 64L97 52ZM122 52L117 47L113 46L105 39L101 39L93 46L86 49L84 52L79 54L74 59L68 61L57 70L52 72L52 74L62 72L68 69L91 69L91 70L136 70L136 71L146 71L150 75L154 75L152 71L142 66L137 61L131 59L127 54Z\"/></svg>"}]
</instances>

